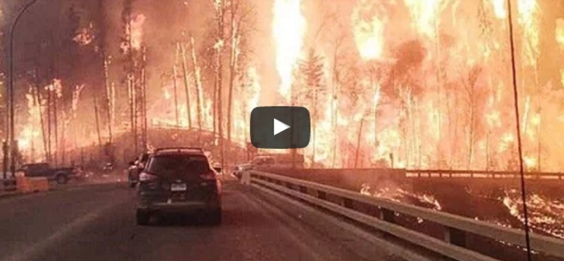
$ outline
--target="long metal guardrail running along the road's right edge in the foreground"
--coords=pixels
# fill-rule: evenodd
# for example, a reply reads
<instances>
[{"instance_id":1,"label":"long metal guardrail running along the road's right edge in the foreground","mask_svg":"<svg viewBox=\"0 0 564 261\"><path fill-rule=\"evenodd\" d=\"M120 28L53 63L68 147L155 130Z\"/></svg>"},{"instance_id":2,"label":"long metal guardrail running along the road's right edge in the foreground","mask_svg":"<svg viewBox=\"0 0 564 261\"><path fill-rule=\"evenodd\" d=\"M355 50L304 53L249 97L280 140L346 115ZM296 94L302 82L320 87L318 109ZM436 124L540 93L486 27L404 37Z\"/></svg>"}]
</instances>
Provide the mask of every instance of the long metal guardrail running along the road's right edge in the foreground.
<instances>
[{"instance_id":1,"label":"long metal guardrail running along the road's right edge in the foreground","mask_svg":"<svg viewBox=\"0 0 564 261\"><path fill-rule=\"evenodd\" d=\"M495 224L477 221L454 214L436 212L423 207L407 205L400 202L393 202L381 198L374 198L360 193L341 188L321 185L310 181L302 181L295 178L288 178L276 174L269 174L263 171L249 171L251 183L255 187L269 188L295 198L305 200L313 205L323 207L326 210L341 214L362 224L372 226L375 229L384 231L415 245L427 248L435 253L440 253L446 257L460 261L494 261L493 257L477 253L467 248L467 235L483 236L496 241L501 241L511 245L525 245L525 233L519 229L508 229ZM312 195L313 194L313 195ZM328 195L341 200L341 204L336 204L327 200ZM357 210L353 210L351 202L362 202L367 205L379 207L380 217L373 217ZM444 228L444 238L440 240L394 223L396 214L403 214L411 217L419 217L426 221L434 222ZM564 241L541 236L532 233L532 250L545 255L564 258Z\"/></svg>"}]
</instances>

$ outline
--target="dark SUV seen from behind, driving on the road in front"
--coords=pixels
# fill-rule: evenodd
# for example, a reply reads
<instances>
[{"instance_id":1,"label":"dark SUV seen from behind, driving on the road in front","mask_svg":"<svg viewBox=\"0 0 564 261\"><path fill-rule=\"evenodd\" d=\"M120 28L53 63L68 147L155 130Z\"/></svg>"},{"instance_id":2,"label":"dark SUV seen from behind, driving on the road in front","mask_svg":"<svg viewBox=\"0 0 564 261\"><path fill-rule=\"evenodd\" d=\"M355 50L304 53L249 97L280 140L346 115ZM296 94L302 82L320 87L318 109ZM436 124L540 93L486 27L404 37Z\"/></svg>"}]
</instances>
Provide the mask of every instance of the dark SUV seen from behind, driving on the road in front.
<instances>
[{"instance_id":1,"label":"dark SUV seen from behind, driving on the road in front","mask_svg":"<svg viewBox=\"0 0 564 261\"><path fill-rule=\"evenodd\" d=\"M137 224L152 214L203 211L211 224L221 223L221 181L200 148L155 150L139 176Z\"/></svg>"}]
</instances>

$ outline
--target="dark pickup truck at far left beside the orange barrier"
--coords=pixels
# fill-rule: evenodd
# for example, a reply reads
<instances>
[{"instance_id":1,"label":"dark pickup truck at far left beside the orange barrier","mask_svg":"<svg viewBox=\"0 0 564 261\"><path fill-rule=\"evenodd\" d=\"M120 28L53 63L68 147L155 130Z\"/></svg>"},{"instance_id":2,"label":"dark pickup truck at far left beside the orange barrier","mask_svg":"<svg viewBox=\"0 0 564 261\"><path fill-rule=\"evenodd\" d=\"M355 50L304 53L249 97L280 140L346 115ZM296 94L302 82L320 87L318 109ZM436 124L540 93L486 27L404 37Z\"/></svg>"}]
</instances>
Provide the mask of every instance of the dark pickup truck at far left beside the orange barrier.
<instances>
[{"instance_id":1,"label":"dark pickup truck at far left beside the orange barrier","mask_svg":"<svg viewBox=\"0 0 564 261\"><path fill-rule=\"evenodd\" d=\"M18 171L22 171L27 177L44 177L59 184L66 184L79 174L79 170L74 167L53 168L48 163L25 164Z\"/></svg>"}]
</instances>

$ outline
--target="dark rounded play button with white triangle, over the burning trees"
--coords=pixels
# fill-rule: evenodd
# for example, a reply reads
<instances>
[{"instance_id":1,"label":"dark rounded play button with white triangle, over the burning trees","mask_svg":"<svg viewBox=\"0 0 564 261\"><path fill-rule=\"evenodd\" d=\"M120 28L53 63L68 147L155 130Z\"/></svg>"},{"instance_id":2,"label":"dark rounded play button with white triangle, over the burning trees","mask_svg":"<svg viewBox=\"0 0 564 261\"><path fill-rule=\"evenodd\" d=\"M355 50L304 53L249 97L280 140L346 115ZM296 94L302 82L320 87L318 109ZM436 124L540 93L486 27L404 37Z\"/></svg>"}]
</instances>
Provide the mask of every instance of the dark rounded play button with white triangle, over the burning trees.
<instances>
[{"instance_id":1,"label":"dark rounded play button with white triangle, over the burning trees","mask_svg":"<svg viewBox=\"0 0 564 261\"><path fill-rule=\"evenodd\" d=\"M309 145L310 120L305 107L256 107L251 111L250 138L262 149L300 149Z\"/></svg>"}]
</instances>

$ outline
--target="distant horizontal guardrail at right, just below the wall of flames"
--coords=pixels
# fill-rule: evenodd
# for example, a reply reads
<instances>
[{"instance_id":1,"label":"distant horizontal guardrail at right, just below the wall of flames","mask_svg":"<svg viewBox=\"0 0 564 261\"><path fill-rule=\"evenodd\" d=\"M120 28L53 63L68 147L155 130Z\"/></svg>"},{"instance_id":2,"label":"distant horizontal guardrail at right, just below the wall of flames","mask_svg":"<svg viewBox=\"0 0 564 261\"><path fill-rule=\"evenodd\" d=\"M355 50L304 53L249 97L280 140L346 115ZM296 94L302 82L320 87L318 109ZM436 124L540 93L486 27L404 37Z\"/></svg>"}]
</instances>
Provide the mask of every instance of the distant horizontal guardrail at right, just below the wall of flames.
<instances>
[{"instance_id":1,"label":"distant horizontal guardrail at right, just below the wall of flames","mask_svg":"<svg viewBox=\"0 0 564 261\"><path fill-rule=\"evenodd\" d=\"M519 171L472 171L439 169L406 169L408 178L520 178ZM561 172L525 172L527 179L557 179L564 181Z\"/></svg>"}]
</instances>

